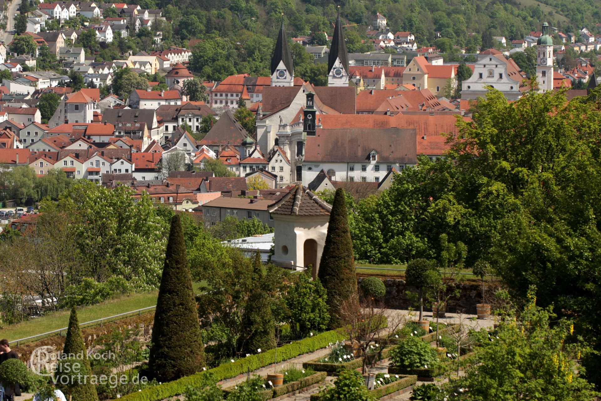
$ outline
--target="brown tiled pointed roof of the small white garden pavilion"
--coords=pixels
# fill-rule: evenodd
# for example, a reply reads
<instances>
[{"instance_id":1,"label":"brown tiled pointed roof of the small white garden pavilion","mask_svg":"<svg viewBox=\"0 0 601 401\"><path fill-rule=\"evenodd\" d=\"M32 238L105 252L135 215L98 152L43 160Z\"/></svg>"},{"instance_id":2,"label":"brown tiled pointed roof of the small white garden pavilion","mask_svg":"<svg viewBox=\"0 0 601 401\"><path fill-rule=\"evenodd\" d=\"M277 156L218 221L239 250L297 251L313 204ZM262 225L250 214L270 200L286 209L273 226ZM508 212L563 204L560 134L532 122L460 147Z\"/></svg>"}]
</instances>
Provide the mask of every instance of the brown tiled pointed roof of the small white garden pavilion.
<instances>
[{"instance_id":1,"label":"brown tiled pointed roof of the small white garden pavilion","mask_svg":"<svg viewBox=\"0 0 601 401\"><path fill-rule=\"evenodd\" d=\"M302 185L297 185L279 201L269 205L269 213L275 215L327 216L331 211L330 204Z\"/></svg>"}]
</instances>

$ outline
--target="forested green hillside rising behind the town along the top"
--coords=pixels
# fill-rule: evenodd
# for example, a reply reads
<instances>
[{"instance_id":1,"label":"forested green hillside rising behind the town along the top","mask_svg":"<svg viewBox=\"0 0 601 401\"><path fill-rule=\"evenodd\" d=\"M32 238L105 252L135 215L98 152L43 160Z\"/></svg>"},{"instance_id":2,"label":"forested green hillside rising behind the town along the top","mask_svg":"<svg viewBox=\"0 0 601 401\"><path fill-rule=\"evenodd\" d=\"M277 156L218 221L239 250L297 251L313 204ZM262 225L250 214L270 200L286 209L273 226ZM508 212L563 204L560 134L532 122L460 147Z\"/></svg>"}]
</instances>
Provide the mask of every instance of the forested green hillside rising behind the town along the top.
<instances>
[{"instance_id":1,"label":"forested green hillside rising behind the town along the top","mask_svg":"<svg viewBox=\"0 0 601 401\"><path fill-rule=\"evenodd\" d=\"M436 32L453 44L475 51L490 47L491 36L507 40L523 38L540 30L543 21L563 32L587 26L599 31L601 1L582 0L488 1L463 0L142 0L143 8L162 8L171 23L156 26L163 31L166 45L190 46L195 50L192 70L206 79L223 79L232 73L269 75L270 55L282 14L289 37L332 34L337 5L343 20L349 52L371 50L361 42L374 13L388 19L391 31L411 31L418 46L432 44ZM486 35L485 35L486 34ZM492 35L491 35L492 34ZM484 38L485 43L482 43ZM488 38L488 40L487 40ZM201 39L192 41L190 39ZM325 44L325 43L319 43ZM305 79L322 75L323 66L310 66L311 58L302 48L293 47L297 76Z\"/></svg>"}]
</instances>

